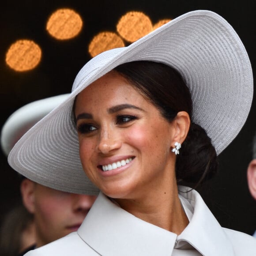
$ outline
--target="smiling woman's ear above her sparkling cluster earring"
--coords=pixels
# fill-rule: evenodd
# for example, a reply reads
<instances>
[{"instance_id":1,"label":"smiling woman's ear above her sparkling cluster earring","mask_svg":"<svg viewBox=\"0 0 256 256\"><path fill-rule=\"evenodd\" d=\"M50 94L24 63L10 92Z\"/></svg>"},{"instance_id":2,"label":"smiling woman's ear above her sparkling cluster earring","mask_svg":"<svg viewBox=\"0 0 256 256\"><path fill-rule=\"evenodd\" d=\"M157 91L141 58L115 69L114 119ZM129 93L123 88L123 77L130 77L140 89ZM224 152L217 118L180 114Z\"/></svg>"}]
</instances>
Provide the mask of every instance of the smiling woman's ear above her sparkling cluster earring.
<instances>
[{"instance_id":1,"label":"smiling woman's ear above her sparkling cluster earring","mask_svg":"<svg viewBox=\"0 0 256 256\"><path fill-rule=\"evenodd\" d=\"M180 111L173 122L174 128L176 130L174 135L174 143L183 143L188 135L188 130L190 127L190 117L187 112ZM174 146L174 143L172 146Z\"/></svg>"}]
</instances>

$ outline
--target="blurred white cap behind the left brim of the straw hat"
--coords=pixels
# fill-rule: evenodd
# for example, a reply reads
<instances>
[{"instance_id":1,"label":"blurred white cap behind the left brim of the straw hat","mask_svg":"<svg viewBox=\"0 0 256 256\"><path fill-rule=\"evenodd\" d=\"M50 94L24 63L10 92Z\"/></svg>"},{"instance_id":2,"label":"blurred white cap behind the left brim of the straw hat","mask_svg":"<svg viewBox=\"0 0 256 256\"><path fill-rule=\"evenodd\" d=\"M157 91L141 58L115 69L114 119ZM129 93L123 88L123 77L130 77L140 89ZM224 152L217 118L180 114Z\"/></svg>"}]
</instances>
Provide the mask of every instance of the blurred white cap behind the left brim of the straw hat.
<instances>
[{"instance_id":1,"label":"blurred white cap behind the left brim of the straw hat","mask_svg":"<svg viewBox=\"0 0 256 256\"><path fill-rule=\"evenodd\" d=\"M15 143L38 121L60 105L70 94L44 98L17 109L5 121L1 130L1 148L6 156Z\"/></svg>"}]
</instances>

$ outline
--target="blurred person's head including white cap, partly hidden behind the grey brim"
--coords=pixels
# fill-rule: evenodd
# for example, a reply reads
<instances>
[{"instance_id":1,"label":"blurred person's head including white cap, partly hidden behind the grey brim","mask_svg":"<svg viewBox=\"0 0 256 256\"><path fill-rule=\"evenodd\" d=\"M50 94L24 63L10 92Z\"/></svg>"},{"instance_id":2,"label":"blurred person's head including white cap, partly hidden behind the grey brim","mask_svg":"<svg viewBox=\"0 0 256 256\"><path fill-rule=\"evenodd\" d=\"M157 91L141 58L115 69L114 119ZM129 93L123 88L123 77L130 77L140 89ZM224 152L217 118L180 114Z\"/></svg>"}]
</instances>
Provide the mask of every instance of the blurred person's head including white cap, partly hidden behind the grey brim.
<instances>
[{"instance_id":1,"label":"blurred person's head including white cap, partly hidden behind the grey brim","mask_svg":"<svg viewBox=\"0 0 256 256\"><path fill-rule=\"evenodd\" d=\"M67 97L68 94L63 94L45 98L16 110L1 132L1 146L6 156L23 134ZM34 216L37 247L76 231L96 199L96 196L62 192L21 178L23 204Z\"/></svg>"}]
</instances>

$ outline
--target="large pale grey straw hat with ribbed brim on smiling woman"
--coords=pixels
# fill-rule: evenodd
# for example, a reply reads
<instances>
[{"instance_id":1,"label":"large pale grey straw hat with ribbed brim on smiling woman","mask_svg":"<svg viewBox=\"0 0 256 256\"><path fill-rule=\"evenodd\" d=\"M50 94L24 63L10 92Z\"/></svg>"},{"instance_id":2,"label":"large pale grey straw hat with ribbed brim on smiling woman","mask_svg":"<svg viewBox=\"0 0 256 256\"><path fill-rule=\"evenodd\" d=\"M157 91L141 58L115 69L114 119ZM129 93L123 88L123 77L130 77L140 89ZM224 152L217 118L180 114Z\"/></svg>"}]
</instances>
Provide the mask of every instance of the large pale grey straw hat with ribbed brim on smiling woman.
<instances>
[{"instance_id":1,"label":"large pale grey straw hat with ribbed brim on smiling woman","mask_svg":"<svg viewBox=\"0 0 256 256\"><path fill-rule=\"evenodd\" d=\"M253 94L252 68L237 33L218 14L191 11L173 19L128 47L90 60L75 78L72 93L15 144L10 166L51 188L96 194L85 175L72 123L75 96L116 66L136 60L176 68L190 88L193 122L211 138L217 154L237 136L248 116Z\"/></svg>"}]
</instances>

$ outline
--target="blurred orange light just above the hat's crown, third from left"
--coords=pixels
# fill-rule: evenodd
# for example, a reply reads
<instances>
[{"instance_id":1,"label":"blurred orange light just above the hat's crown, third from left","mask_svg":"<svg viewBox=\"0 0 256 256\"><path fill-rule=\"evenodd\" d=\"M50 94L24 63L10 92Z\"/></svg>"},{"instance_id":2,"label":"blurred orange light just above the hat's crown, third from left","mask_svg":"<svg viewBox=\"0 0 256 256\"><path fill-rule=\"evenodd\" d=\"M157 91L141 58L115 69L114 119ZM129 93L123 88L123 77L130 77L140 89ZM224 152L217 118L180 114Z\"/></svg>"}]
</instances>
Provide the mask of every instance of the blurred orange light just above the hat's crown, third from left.
<instances>
[{"instance_id":1,"label":"blurred orange light just above the hat's crown, third from left","mask_svg":"<svg viewBox=\"0 0 256 256\"><path fill-rule=\"evenodd\" d=\"M110 49L124 47L124 41L113 32L101 32L96 35L89 45L90 56L94 57L99 53Z\"/></svg>"}]
</instances>

